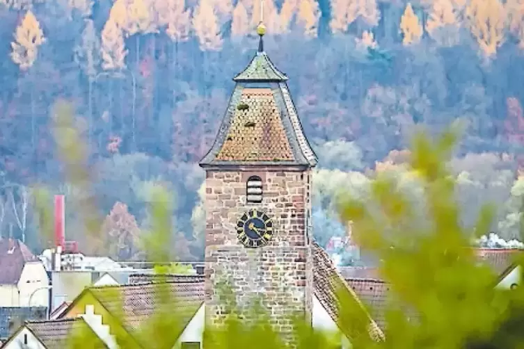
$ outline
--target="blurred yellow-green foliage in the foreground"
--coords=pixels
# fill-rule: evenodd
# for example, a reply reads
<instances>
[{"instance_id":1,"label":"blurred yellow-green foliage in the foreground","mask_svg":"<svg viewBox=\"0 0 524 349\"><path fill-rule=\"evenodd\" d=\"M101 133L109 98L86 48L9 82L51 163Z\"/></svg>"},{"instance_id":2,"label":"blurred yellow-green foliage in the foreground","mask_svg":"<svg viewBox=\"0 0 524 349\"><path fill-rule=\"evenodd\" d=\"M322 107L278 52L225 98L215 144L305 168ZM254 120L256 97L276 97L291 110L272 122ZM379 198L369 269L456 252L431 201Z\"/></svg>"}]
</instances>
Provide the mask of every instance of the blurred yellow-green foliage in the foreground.
<instances>
[{"instance_id":1,"label":"blurred yellow-green foliage in the foreground","mask_svg":"<svg viewBox=\"0 0 524 349\"><path fill-rule=\"evenodd\" d=\"M70 181L88 185L87 170L76 168L84 153L68 121L72 113L66 104L58 104L57 110L60 130L56 134L62 139L58 147L66 167L74 167L68 171ZM524 348L522 287L495 288L497 275L477 263L470 247L471 232L482 234L489 229L493 209L485 206L475 227L462 227L459 222L454 180L446 165L455 143L453 131L436 139L424 133L415 136L409 170L422 185L422 198L414 201L404 195L397 179L387 174L377 175L367 195L341 192L338 197L340 217L352 222L358 245L379 256L381 277L391 293L386 339L374 341L365 311L349 292L340 291L340 323L350 334L353 348ZM166 190L155 188L150 202L152 229L144 246L149 259L168 261L173 244L169 238L170 197ZM40 202L42 197L45 195L40 195ZM84 207L90 209L89 205ZM41 212L42 219L49 219L45 209ZM517 258L521 263L521 257ZM157 268L160 275L166 271L168 268ZM169 296L161 283L158 287L159 298ZM224 295L234 303L227 289ZM339 348L340 336L313 332L302 318L292 314L296 341L281 339L270 325L270 309L264 309L261 300L253 303L247 315L240 315L233 307L223 326L206 326L205 348ZM150 343L148 348L170 349L177 339L173 330L179 323L180 314L173 311L177 300L168 301L173 307L157 309L141 332ZM165 302L163 299L159 304ZM78 336L74 334L71 348L91 348L89 339L79 341Z\"/></svg>"}]
</instances>

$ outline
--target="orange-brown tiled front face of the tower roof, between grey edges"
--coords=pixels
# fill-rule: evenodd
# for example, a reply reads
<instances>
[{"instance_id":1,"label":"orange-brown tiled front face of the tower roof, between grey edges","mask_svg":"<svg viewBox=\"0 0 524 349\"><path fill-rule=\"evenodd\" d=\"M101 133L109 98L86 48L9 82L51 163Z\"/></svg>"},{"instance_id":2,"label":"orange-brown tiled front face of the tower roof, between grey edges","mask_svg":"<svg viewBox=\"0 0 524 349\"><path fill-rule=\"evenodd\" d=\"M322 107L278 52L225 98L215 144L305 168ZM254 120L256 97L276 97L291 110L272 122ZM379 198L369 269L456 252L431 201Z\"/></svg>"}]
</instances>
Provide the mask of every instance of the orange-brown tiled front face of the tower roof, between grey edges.
<instances>
[{"instance_id":1,"label":"orange-brown tiled front face of the tower roof, between grey edges","mask_svg":"<svg viewBox=\"0 0 524 349\"><path fill-rule=\"evenodd\" d=\"M224 145L216 159L220 161L292 161L294 159L271 88L242 90L239 104L233 111Z\"/></svg>"}]
</instances>

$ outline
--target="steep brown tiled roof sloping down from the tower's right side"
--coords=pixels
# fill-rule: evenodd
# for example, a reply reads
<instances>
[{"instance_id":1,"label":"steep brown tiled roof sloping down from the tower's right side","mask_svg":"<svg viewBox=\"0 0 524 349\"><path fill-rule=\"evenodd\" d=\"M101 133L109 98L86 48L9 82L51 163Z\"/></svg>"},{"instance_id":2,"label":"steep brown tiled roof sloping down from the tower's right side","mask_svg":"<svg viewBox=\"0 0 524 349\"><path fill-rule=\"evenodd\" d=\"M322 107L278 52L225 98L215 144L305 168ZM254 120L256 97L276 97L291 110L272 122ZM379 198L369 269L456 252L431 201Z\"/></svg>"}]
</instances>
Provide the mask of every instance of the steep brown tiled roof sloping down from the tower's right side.
<instances>
[{"instance_id":1,"label":"steep brown tiled roof sloping down from the tower's right side","mask_svg":"<svg viewBox=\"0 0 524 349\"><path fill-rule=\"evenodd\" d=\"M328 254L322 247L317 243L313 243L313 283L315 285L315 296L326 309L327 313L333 321L337 323L340 330L345 332L348 338L351 338L351 334L347 333L345 326L342 323L340 314L340 297L346 298L347 300L355 300L358 306L364 311L363 314L370 321L368 330L372 339L381 340L384 338L384 334L370 314L365 309L363 303L358 299L358 295L353 289L347 284L342 275L338 272L337 268L333 264L333 261L329 258ZM340 293L339 293L340 292Z\"/></svg>"}]
</instances>

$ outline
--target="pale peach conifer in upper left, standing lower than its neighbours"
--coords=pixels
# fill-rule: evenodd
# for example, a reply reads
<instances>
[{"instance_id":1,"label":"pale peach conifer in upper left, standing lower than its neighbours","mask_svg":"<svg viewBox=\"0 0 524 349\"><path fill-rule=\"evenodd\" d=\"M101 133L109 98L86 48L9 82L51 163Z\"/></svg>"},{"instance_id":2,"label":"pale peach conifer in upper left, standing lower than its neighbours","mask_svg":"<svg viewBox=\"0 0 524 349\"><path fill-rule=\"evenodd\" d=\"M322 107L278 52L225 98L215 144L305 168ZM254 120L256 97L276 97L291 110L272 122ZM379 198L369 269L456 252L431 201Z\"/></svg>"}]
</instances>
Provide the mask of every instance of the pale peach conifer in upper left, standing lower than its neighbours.
<instances>
[{"instance_id":1,"label":"pale peach conifer in upper left, standing lower than its neighbours","mask_svg":"<svg viewBox=\"0 0 524 349\"><path fill-rule=\"evenodd\" d=\"M104 25L104 29L102 29L101 42L102 68L104 70L124 69L126 67L125 56L127 56L127 49L125 49L122 29L111 18L109 18Z\"/></svg>"}]
</instances>

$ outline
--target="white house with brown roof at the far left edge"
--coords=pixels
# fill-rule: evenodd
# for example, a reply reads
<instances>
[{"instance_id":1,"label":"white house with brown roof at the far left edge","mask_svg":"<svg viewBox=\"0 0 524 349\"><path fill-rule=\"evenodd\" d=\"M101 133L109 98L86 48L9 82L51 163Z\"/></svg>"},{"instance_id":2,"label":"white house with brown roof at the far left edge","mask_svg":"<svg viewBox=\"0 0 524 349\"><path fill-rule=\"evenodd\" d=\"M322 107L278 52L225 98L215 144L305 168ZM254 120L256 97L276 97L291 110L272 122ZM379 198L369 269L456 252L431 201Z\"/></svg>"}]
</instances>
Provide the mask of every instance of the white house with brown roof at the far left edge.
<instances>
[{"instance_id":1,"label":"white house with brown roof at the far left edge","mask_svg":"<svg viewBox=\"0 0 524 349\"><path fill-rule=\"evenodd\" d=\"M0 238L0 271L0 307L48 307L44 265L22 241Z\"/></svg>"}]
</instances>

